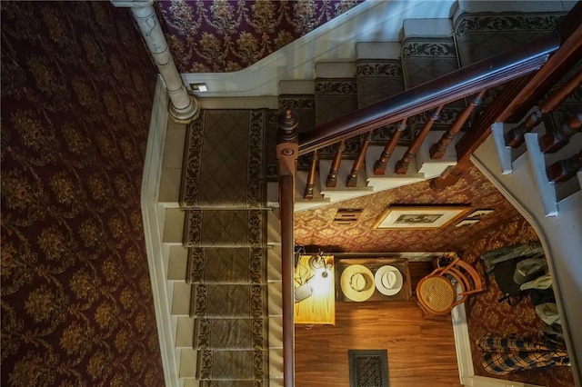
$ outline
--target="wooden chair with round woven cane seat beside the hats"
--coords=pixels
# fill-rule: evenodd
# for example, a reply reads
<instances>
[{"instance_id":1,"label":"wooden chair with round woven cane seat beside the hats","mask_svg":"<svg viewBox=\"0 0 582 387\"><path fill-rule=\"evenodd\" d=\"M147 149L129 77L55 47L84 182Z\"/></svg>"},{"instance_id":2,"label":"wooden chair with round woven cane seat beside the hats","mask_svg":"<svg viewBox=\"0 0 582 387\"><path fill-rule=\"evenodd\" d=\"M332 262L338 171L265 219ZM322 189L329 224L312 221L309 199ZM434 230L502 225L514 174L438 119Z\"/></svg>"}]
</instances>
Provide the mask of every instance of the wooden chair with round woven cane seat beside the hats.
<instances>
[{"instance_id":1,"label":"wooden chair with round woven cane seat beside the hats","mask_svg":"<svg viewBox=\"0 0 582 387\"><path fill-rule=\"evenodd\" d=\"M448 314L469 294L483 291L477 270L459 258L426 275L416 286L418 304L427 316Z\"/></svg>"}]
</instances>

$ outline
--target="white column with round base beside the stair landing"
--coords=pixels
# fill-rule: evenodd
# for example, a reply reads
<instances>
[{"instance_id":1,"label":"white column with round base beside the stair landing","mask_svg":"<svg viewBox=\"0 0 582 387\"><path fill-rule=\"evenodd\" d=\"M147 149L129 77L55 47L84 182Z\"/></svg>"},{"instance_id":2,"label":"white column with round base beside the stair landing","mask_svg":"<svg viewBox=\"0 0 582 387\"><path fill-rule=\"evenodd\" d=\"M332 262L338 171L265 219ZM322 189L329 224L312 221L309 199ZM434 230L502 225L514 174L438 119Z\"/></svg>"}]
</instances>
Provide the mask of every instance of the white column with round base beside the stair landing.
<instances>
[{"instance_id":1,"label":"white column with round base beside the stair landing","mask_svg":"<svg viewBox=\"0 0 582 387\"><path fill-rule=\"evenodd\" d=\"M131 8L131 13L144 36L147 48L166 83L167 94L170 97L169 113L174 121L179 124L189 124L196 120L200 114L200 104L194 95L186 92L182 77L178 73L174 58L167 45L166 36L164 36L157 19L154 2L152 0L111 0L111 3L116 7Z\"/></svg>"}]
</instances>

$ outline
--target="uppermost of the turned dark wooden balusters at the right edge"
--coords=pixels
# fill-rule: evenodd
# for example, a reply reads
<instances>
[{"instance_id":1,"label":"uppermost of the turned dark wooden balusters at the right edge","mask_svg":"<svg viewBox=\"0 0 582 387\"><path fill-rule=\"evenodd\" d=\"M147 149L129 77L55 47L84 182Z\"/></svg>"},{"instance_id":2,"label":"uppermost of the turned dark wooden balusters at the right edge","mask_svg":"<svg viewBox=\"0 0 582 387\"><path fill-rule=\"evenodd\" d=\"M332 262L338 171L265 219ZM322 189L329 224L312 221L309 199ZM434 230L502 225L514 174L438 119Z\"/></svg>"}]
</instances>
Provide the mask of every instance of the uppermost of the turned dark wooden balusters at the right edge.
<instances>
[{"instance_id":1,"label":"uppermost of the turned dark wooden balusters at the right edge","mask_svg":"<svg viewBox=\"0 0 582 387\"><path fill-rule=\"evenodd\" d=\"M568 95L574 93L580 87L580 84L582 84L582 71L573 76L567 84L564 84L555 94L547 98L543 104L537 106L536 110L529 114L521 124L507 132L505 135L506 145L517 148L517 146L523 144L524 134L531 132L544 120L547 114L556 110L557 106L562 104Z\"/></svg>"}]
</instances>

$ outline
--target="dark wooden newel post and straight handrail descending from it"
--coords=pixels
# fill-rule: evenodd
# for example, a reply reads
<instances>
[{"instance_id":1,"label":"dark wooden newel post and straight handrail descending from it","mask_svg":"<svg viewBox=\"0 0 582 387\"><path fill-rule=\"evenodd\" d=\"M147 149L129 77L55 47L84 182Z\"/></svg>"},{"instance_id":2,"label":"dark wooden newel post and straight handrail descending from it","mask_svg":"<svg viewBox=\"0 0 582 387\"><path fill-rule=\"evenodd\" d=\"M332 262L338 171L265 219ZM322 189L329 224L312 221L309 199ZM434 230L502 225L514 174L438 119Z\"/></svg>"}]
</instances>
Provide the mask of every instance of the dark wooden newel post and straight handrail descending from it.
<instances>
[{"instance_id":1,"label":"dark wooden newel post and straight handrail descending from it","mask_svg":"<svg viewBox=\"0 0 582 387\"><path fill-rule=\"evenodd\" d=\"M281 220L281 286L283 293L283 383L295 385L294 284L295 238L293 213L298 144L297 117L290 110L279 114L276 156L279 165L279 216Z\"/></svg>"}]
</instances>

